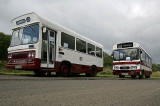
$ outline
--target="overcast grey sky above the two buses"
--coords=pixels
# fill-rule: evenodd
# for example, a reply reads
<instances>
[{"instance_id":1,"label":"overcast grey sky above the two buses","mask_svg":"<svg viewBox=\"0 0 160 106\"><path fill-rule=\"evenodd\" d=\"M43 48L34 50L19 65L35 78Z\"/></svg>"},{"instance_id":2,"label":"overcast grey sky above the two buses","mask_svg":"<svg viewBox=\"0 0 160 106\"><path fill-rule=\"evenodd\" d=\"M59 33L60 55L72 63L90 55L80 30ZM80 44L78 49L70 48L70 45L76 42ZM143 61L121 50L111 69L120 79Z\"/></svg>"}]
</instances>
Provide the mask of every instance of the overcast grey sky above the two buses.
<instances>
[{"instance_id":1,"label":"overcast grey sky above the two buses","mask_svg":"<svg viewBox=\"0 0 160 106\"><path fill-rule=\"evenodd\" d=\"M0 32L11 34L10 21L36 12L104 45L136 41L160 63L159 0L0 0Z\"/></svg>"}]
</instances>

